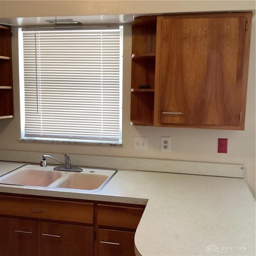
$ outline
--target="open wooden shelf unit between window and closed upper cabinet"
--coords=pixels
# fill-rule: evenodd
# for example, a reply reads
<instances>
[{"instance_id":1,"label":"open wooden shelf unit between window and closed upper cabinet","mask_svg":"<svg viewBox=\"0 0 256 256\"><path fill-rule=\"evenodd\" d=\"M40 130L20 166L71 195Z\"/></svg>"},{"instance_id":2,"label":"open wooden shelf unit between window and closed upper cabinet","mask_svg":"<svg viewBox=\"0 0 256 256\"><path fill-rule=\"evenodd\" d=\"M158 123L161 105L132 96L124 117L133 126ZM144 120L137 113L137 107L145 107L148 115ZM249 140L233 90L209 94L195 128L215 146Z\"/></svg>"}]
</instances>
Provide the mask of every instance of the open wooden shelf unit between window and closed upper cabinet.
<instances>
[{"instance_id":1,"label":"open wooden shelf unit between window and closed upper cabinet","mask_svg":"<svg viewBox=\"0 0 256 256\"><path fill-rule=\"evenodd\" d=\"M156 66L156 16L135 18L132 24L131 124L153 126ZM139 89L149 85L148 89Z\"/></svg>"}]
</instances>

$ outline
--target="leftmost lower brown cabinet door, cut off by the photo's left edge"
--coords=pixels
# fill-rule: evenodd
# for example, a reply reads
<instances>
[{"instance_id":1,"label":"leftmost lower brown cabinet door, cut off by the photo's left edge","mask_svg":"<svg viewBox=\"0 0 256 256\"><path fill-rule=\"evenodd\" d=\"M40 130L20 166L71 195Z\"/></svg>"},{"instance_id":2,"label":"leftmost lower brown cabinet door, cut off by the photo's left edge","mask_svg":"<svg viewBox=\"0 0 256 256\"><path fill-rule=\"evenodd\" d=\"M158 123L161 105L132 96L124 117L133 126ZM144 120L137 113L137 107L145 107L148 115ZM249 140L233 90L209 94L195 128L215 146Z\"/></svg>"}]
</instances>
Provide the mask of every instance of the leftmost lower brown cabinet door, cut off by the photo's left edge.
<instances>
[{"instance_id":1,"label":"leftmost lower brown cabinet door, cut off by the photo's left edge","mask_svg":"<svg viewBox=\"0 0 256 256\"><path fill-rule=\"evenodd\" d=\"M36 221L0 217L0 255L38 255Z\"/></svg>"}]
</instances>

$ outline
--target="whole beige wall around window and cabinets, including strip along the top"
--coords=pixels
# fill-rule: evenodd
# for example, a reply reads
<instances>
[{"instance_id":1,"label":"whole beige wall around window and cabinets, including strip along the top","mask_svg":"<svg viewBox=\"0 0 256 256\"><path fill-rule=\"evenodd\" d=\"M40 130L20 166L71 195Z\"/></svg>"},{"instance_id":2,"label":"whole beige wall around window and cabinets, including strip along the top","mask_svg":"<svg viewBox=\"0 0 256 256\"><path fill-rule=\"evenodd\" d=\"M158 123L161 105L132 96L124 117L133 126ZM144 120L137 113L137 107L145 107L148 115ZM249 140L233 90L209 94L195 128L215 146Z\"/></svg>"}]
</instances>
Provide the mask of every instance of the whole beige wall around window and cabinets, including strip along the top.
<instances>
[{"instance_id":1,"label":"whole beige wall around window and cabinets, including strip along the top","mask_svg":"<svg viewBox=\"0 0 256 256\"><path fill-rule=\"evenodd\" d=\"M51 2L50 5L49 2ZM255 196L255 1L0 1L1 18L219 10L254 11L244 131L131 126L131 30L130 25L126 25L124 27L123 147L18 142L17 138L20 137L18 38L17 29L14 28L15 118L0 120L0 149L244 164L246 181ZM148 137L148 151L133 150L133 137L135 136ZM160 152L161 136L172 138L171 152ZM227 154L217 153L218 138L228 138Z\"/></svg>"}]
</instances>

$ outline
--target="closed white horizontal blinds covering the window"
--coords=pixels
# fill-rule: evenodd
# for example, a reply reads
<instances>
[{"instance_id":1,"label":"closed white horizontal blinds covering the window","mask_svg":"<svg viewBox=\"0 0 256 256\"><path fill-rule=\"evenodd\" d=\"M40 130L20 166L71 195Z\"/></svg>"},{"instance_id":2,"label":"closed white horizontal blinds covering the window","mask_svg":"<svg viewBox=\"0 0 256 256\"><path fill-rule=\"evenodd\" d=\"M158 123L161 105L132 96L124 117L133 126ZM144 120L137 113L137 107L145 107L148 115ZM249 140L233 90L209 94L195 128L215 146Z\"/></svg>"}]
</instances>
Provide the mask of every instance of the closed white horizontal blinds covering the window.
<instances>
[{"instance_id":1,"label":"closed white horizontal blinds covering the window","mask_svg":"<svg viewBox=\"0 0 256 256\"><path fill-rule=\"evenodd\" d=\"M20 33L22 137L122 143L122 27Z\"/></svg>"}]
</instances>

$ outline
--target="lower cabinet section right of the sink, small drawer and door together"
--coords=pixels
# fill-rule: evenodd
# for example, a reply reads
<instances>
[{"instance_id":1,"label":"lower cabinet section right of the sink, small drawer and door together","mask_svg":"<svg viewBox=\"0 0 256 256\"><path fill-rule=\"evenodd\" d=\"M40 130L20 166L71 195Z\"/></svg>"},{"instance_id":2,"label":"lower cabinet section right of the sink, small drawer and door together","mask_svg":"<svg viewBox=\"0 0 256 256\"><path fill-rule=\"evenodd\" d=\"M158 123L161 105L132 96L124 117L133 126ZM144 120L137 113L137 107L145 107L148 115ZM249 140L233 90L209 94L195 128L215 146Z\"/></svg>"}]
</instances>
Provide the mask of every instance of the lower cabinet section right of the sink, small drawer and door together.
<instances>
[{"instance_id":1,"label":"lower cabinet section right of the sink, small drawer and door together","mask_svg":"<svg viewBox=\"0 0 256 256\"><path fill-rule=\"evenodd\" d=\"M144 207L97 204L97 256L135 256L134 235Z\"/></svg>"}]
</instances>

